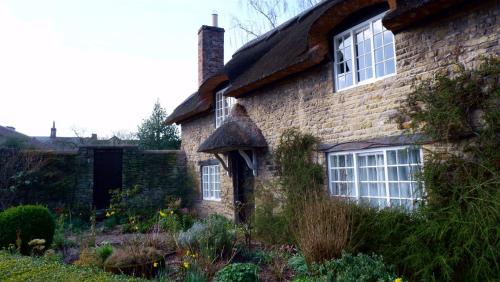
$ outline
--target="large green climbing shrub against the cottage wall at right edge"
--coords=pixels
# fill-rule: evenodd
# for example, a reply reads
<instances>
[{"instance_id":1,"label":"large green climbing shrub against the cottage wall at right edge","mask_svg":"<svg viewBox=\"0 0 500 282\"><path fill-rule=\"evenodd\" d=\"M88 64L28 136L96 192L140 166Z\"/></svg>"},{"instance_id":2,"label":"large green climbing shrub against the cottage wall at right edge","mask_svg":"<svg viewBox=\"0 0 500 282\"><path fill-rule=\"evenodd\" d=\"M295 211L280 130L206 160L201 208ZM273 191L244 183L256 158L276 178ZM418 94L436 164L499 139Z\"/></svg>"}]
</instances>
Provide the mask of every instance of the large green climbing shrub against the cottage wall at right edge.
<instances>
[{"instance_id":1,"label":"large green climbing shrub against the cottage wall at right edge","mask_svg":"<svg viewBox=\"0 0 500 282\"><path fill-rule=\"evenodd\" d=\"M412 132L451 142L428 154L422 220L395 246L394 262L415 280L500 279L499 77L498 57L458 66L419 81L402 104Z\"/></svg>"}]
</instances>

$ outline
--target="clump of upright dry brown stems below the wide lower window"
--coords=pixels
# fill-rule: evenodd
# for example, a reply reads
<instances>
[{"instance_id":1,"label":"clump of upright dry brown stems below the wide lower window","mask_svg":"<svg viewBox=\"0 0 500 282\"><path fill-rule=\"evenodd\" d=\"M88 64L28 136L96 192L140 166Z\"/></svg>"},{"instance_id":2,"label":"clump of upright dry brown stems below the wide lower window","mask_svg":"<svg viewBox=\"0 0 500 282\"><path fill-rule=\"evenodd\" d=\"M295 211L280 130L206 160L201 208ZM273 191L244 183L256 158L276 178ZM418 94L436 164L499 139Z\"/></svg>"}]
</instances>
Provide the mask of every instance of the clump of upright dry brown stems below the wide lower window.
<instances>
[{"instance_id":1,"label":"clump of upright dry brown stems below the wide lower window","mask_svg":"<svg viewBox=\"0 0 500 282\"><path fill-rule=\"evenodd\" d=\"M297 217L296 240L307 263L341 256L353 224L349 203L331 198L326 192L313 192L307 195Z\"/></svg>"}]
</instances>

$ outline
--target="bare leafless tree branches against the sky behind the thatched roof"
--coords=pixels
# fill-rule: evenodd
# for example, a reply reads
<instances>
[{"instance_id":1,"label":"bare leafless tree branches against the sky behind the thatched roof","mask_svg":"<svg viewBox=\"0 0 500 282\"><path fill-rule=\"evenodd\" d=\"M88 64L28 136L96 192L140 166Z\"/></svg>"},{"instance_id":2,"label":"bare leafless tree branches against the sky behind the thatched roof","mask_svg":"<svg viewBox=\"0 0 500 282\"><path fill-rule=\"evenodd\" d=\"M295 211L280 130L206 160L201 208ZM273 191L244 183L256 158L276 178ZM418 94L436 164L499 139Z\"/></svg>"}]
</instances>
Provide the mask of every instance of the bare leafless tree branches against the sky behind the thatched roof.
<instances>
[{"instance_id":1,"label":"bare leafless tree branches against the sky behind the thatched roof","mask_svg":"<svg viewBox=\"0 0 500 282\"><path fill-rule=\"evenodd\" d=\"M233 17L236 37L249 41L322 0L241 0L247 18ZM237 42L239 44L244 42Z\"/></svg>"}]
</instances>

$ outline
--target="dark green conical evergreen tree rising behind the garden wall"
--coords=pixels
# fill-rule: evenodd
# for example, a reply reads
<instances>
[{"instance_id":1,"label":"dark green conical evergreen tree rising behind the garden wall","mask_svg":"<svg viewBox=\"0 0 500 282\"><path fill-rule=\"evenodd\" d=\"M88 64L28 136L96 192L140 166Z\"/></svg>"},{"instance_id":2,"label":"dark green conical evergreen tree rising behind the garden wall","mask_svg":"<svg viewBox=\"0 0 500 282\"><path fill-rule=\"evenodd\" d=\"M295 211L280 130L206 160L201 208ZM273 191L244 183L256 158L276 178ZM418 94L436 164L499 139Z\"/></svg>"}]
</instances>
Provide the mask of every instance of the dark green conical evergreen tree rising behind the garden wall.
<instances>
[{"instance_id":1,"label":"dark green conical evergreen tree rising behind the garden wall","mask_svg":"<svg viewBox=\"0 0 500 282\"><path fill-rule=\"evenodd\" d=\"M138 127L139 146L149 150L179 149L181 139L175 125L167 125L167 112L156 101L153 112Z\"/></svg>"}]
</instances>

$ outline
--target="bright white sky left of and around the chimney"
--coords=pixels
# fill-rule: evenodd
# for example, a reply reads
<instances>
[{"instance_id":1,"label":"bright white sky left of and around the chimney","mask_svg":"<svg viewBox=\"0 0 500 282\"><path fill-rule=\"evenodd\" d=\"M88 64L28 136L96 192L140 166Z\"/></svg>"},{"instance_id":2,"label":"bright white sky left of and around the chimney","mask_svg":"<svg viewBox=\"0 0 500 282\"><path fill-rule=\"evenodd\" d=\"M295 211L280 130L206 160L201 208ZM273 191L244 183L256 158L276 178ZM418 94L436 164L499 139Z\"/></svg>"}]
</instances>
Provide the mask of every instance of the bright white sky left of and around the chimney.
<instances>
[{"instance_id":1,"label":"bright white sky left of and around the chimney","mask_svg":"<svg viewBox=\"0 0 500 282\"><path fill-rule=\"evenodd\" d=\"M239 0L0 0L0 125L30 136L134 132L197 89L198 29ZM233 36L234 37L234 36Z\"/></svg>"}]
</instances>

